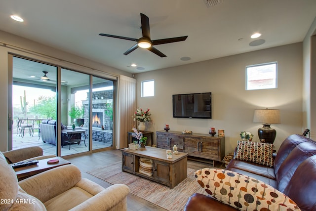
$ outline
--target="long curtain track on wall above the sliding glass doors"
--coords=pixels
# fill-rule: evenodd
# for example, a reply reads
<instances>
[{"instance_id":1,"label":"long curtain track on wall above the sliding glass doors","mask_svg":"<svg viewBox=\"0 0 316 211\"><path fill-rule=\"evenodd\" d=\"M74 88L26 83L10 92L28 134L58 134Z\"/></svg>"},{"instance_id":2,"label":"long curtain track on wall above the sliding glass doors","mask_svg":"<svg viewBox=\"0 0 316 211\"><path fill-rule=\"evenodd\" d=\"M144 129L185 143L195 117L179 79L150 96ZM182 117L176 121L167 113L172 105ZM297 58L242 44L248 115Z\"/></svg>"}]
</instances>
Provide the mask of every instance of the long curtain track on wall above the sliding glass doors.
<instances>
[{"instance_id":1,"label":"long curtain track on wall above the sliding glass doors","mask_svg":"<svg viewBox=\"0 0 316 211\"><path fill-rule=\"evenodd\" d=\"M39 53L39 52L36 52L36 51L33 51L33 50L29 50L29 49L26 49L26 48L18 47L18 46L15 46L15 45L12 45L12 44L8 44L8 43L5 43L5 42L0 42L0 44L3 47L10 48L10 49L13 49L13 50L18 50L18 51L21 51L21 52L24 52L24 53L29 53L29 54L40 56L40 57L43 57L43 58L54 59L54 60L62 61L62 62L68 62L70 64L74 64L74 65L78 65L80 67L88 68L90 70L96 70L96 71L100 71L102 73L106 73L106 72L103 72L101 70L94 69L94 68L91 68L91 67L88 67L88 66L85 66L85 65L81 65L81 64L78 64L78 63L75 63L75 62L64 60L64 59L61 59L61 58L58 58L58 57L46 55L44 53ZM112 73L106 73L106 74L108 74L110 76L113 76L113 77L118 77L118 75L115 75L115 74L112 74Z\"/></svg>"}]
</instances>

